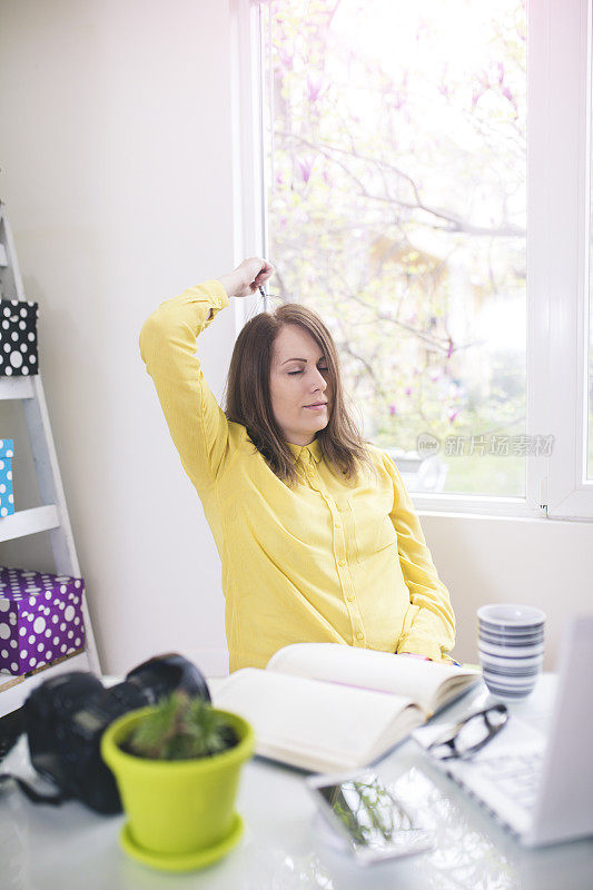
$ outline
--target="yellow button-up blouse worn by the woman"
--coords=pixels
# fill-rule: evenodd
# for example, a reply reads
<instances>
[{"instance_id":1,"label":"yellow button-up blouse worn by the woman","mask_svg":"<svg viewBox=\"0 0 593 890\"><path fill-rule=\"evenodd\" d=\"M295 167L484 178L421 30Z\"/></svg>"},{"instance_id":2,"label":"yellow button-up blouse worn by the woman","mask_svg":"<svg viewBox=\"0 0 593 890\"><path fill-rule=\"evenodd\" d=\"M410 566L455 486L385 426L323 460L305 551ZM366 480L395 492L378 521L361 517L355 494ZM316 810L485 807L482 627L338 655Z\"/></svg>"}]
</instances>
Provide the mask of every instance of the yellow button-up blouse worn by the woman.
<instances>
[{"instance_id":1,"label":"yellow button-up blouse worn by the woman","mask_svg":"<svg viewBox=\"0 0 593 890\"><path fill-rule=\"evenodd\" d=\"M353 486L317 439L290 445L300 475L290 490L227 421L195 355L226 306L216 279L190 287L147 318L139 344L220 555L230 671L305 641L446 659L449 596L389 456L369 446L379 483Z\"/></svg>"}]
</instances>

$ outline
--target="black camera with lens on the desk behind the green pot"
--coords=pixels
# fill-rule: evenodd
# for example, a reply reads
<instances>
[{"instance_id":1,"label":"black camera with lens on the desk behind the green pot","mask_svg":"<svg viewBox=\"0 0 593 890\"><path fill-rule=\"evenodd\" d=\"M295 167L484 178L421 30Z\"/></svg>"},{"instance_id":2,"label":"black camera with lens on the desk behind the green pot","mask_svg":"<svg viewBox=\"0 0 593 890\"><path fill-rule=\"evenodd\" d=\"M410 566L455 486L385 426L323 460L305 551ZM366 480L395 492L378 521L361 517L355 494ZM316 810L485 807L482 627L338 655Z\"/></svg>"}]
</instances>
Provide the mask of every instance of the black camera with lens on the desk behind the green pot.
<instances>
[{"instance_id":1,"label":"black camera with lens on the desk behind the green pot","mask_svg":"<svg viewBox=\"0 0 593 890\"><path fill-rule=\"evenodd\" d=\"M176 654L144 662L109 689L82 671L41 683L21 709L21 731L27 733L32 765L60 793L43 798L22 781L20 787L34 802L76 798L100 813L121 812L116 781L101 758L101 735L121 714L156 704L176 690L210 701L201 672Z\"/></svg>"}]
</instances>

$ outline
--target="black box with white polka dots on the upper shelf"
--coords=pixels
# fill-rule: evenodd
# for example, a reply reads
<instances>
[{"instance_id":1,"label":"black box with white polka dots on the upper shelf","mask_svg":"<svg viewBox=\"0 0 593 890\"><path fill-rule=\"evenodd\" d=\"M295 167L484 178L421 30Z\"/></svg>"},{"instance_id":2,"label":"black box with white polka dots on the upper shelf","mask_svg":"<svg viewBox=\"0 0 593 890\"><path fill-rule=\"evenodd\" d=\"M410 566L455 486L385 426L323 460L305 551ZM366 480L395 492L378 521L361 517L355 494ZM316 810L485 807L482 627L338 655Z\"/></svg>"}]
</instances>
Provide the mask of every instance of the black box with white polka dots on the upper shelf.
<instances>
[{"instance_id":1,"label":"black box with white polka dots on the upper shelf","mask_svg":"<svg viewBox=\"0 0 593 890\"><path fill-rule=\"evenodd\" d=\"M37 318L39 304L19 299L0 300L0 376L39 374Z\"/></svg>"}]
</instances>

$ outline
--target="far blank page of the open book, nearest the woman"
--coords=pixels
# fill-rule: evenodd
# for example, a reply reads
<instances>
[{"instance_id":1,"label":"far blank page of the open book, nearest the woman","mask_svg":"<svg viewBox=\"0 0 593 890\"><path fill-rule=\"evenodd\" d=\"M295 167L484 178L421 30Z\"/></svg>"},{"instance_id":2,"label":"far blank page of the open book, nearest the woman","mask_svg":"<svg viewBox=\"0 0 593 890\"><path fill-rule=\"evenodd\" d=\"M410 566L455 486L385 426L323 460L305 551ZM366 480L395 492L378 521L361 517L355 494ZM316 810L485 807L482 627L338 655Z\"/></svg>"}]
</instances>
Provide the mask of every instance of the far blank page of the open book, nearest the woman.
<instances>
[{"instance_id":1,"label":"far blank page of the open book, nearest the woman","mask_svg":"<svg viewBox=\"0 0 593 890\"><path fill-rule=\"evenodd\" d=\"M266 671L345 683L412 699L432 714L455 690L461 692L480 672L452 664L421 661L342 643L291 643L276 652Z\"/></svg>"}]
</instances>

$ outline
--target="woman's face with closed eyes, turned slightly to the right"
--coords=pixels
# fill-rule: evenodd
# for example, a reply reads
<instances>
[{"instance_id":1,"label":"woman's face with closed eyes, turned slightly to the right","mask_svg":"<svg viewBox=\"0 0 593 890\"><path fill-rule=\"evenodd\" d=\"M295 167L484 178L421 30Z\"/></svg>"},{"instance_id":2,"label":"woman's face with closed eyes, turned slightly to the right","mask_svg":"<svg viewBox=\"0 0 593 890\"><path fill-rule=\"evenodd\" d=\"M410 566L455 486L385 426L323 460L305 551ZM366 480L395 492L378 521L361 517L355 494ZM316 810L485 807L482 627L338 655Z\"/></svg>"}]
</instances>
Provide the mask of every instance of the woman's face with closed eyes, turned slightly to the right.
<instances>
[{"instance_id":1,"label":"woman's face with closed eyes, turned slightly to the right","mask_svg":"<svg viewBox=\"0 0 593 890\"><path fill-rule=\"evenodd\" d=\"M274 340L269 387L271 408L285 442L309 445L327 426L332 387L316 340L298 325L284 325ZM309 405L323 403L322 407Z\"/></svg>"}]
</instances>

